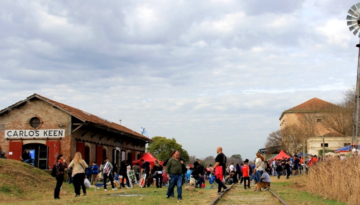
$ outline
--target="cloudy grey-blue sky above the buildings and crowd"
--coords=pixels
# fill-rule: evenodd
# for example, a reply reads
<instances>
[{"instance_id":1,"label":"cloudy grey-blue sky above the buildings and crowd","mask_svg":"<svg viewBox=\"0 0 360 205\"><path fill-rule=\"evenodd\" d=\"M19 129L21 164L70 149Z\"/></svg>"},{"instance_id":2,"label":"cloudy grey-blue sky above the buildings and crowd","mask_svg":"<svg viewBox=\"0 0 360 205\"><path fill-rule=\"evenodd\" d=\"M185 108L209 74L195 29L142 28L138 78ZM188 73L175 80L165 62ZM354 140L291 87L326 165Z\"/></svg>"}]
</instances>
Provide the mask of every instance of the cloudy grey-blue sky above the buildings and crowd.
<instances>
[{"instance_id":1,"label":"cloudy grey-blue sky above the buildings and crowd","mask_svg":"<svg viewBox=\"0 0 360 205\"><path fill-rule=\"evenodd\" d=\"M254 158L284 110L356 82L357 1L0 1L0 110L33 93L190 155Z\"/></svg>"}]
</instances>

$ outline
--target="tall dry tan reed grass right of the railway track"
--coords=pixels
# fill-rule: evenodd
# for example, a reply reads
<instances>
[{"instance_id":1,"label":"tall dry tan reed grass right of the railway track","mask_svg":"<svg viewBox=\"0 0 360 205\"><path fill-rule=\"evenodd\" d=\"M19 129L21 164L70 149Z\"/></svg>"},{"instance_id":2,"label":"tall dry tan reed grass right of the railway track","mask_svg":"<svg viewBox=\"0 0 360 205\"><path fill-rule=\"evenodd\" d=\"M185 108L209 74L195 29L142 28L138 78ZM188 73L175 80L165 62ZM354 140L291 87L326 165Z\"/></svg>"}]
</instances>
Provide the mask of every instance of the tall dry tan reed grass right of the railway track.
<instances>
[{"instance_id":1,"label":"tall dry tan reed grass right of the railway track","mask_svg":"<svg viewBox=\"0 0 360 205\"><path fill-rule=\"evenodd\" d=\"M360 158L330 158L311 167L306 176L307 191L327 199L360 204Z\"/></svg>"}]
</instances>

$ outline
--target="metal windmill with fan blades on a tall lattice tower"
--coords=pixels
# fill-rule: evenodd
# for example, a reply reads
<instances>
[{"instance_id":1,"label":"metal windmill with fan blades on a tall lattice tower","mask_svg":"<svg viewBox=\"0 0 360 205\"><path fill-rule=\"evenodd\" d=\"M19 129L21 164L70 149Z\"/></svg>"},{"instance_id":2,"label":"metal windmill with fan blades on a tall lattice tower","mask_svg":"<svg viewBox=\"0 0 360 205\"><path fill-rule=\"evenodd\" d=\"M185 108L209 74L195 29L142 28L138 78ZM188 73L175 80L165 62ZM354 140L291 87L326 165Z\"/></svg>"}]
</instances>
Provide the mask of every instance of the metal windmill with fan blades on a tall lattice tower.
<instances>
[{"instance_id":1,"label":"metal windmill with fan blades on a tall lattice tower","mask_svg":"<svg viewBox=\"0 0 360 205\"><path fill-rule=\"evenodd\" d=\"M360 3L352 5L347 11L346 17L347 25L350 26L349 30L356 36L359 33L360 38ZM359 144L359 95L360 95L360 43L356 45L359 48L357 57L357 76L356 76L356 93L355 93L355 111L354 111L354 126L352 130L351 144Z\"/></svg>"}]
</instances>

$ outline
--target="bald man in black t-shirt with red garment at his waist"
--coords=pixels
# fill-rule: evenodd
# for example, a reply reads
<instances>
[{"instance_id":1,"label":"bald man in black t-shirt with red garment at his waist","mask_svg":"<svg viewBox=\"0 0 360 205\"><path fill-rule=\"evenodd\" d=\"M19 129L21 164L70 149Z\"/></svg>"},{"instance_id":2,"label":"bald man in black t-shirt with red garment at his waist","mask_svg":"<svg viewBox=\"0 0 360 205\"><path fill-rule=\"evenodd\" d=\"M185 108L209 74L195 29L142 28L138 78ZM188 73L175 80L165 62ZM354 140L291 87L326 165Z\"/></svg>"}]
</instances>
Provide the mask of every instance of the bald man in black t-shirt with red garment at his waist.
<instances>
[{"instance_id":1,"label":"bald man in black t-shirt with red garment at his waist","mask_svg":"<svg viewBox=\"0 0 360 205\"><path fill-rule=\"evenodd\" d=\"M215 182L219 185L217 194L221 194L221 192L229 190L228 187L222 183L222 179L225 174L226 156L222 153L222 148L220 146L216 148L216 153L217 156L215 158L215 165L212 167L212 170L215 170ZM221 188L224 188L224 190L221 191Z\"/></svg>"}]
</instances>

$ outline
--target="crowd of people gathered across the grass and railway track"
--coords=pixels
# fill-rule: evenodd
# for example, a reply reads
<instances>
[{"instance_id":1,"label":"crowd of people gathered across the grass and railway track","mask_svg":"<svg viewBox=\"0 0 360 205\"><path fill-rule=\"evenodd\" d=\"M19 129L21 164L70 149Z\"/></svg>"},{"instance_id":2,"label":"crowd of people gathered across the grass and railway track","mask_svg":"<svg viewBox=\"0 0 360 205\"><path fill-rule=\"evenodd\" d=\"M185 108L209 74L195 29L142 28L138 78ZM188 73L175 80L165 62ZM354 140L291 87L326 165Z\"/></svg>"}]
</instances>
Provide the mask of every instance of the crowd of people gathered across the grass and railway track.
<instances>
[{"instance_id":1,"label":"crowd of people gathered across the grass and railway track","mask_svg":"<svg viewBox=\"0 0 360 205\"><path fill-rule=\"evenodd\" d=\"M232 183L239 183L244 185L244 189L251 188L251 182L254 180L253 191L260 191L261 188L267 190L270 186L270 176L286 176L287 179L291 175L296 175L298 169L301 169L304 164L303 157L297 155L289 158L265 160L260 153L256 154L255 161L244 160L241 164L231 163L226 167L226 156L222 153L222 148L216 149L217 156L215 164L209 165L206 168L203 166L201 160L195 161L193 164L185 166L184 159L180 157L180 152L174 150L169 158L160 164L157 160L154 161L153 166L143 159L135 166L131 166L129 162L123 160L120 164L118 172L113 171L114 167L109 162L108 158L104 158L103 163L98 166L95 162L89 167L82 159L81 153L77 152L70 164L67 165L66 159L61 154L58 156L56 163L56 180L57 184L54 190L54 198L60 199L60 187L64 181L64 170L67 168L68 183L73 183L75 190L75 197L80 196L81 189L83 196L86 196L86 187L84 185L84 178L90 179L90 184L93 185L100 177L103 178L103 188L106 191L107 187L111 185L112 189L129 188L131 181L129 179L129 172L135 174L136 181L140 178L145 179L143 188L151 185L156 188L168 186L166 198L175 197L174 189L177 187L177 199L182 199L182 186L189 178L194 178L195 186L202 188L206 180L215 178L218 185L217 194L221 194L228 190L226 185ZM309 156L305 160L306 168L318 163L319 159L316 155ZM109 181L109 183L108 183ZM126 183L124 183L126 181ZM258 183L260 182L260 183Z\"/></svg>"}]
</instances>

